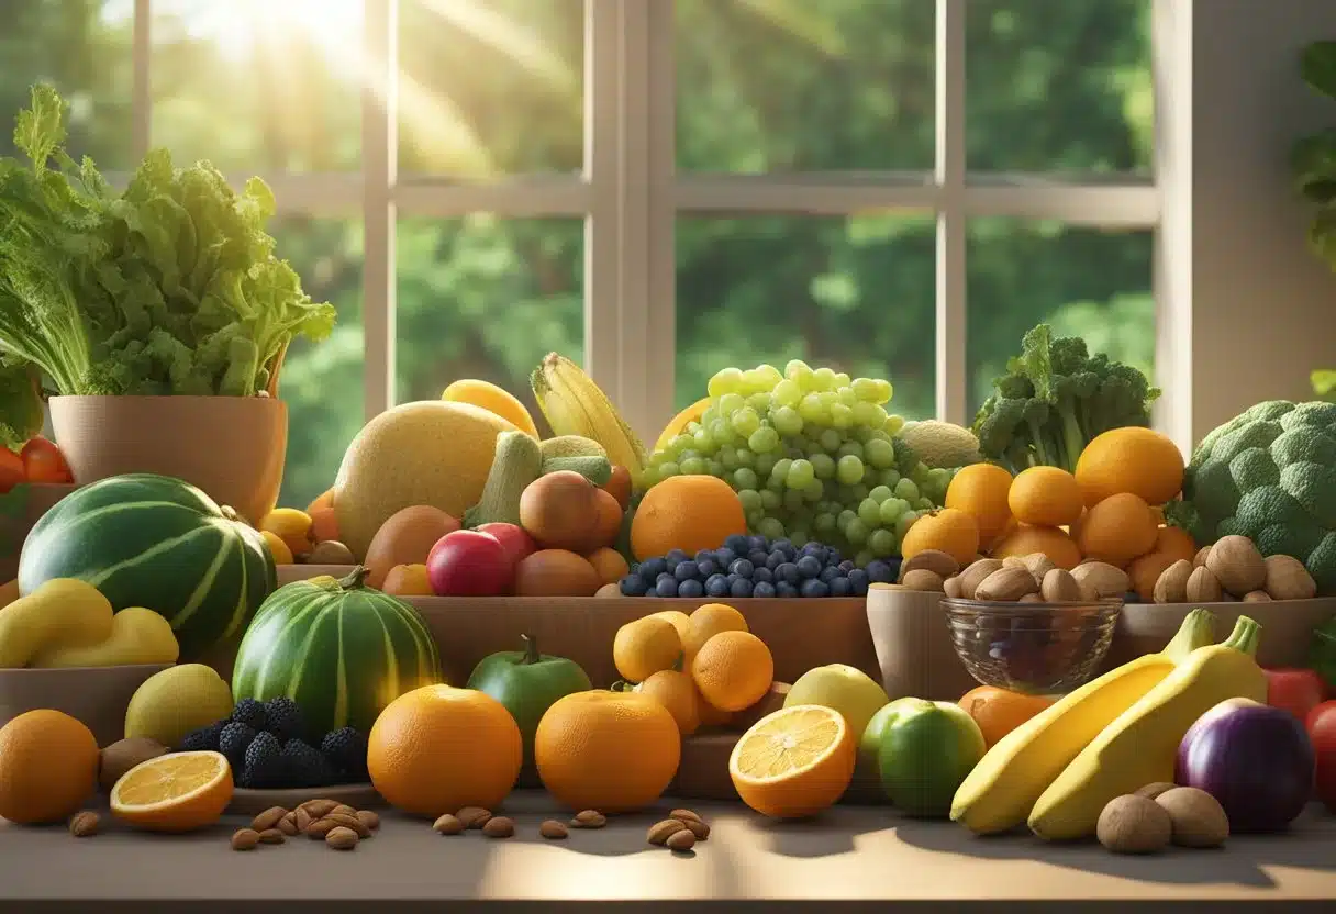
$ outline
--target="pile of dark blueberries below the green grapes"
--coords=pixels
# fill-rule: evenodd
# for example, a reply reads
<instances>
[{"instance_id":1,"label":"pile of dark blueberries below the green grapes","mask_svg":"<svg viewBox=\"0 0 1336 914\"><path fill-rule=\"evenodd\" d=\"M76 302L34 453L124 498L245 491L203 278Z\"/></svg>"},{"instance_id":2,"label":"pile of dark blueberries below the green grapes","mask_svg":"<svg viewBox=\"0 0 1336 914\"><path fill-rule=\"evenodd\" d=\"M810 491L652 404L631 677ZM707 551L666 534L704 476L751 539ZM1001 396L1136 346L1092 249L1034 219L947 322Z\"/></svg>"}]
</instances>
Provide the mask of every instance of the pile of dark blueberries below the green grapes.
<instances>
[{"instance_id":1,"label":"pile of dark blueberries below the green grapes","mask_svg":"<svg viewBox=\"0 0 1336 914\"><path fill-rule=\"evenodd\" d=\"M788 540L735 535L719 549L688 556L673 549L647 559L621 579L623 596L652 597L847 597L864 596L868 584L892 584L899 560L875 560L856 568L838 549L820 543L802 548Z\"/></svg>"}]
</instances>

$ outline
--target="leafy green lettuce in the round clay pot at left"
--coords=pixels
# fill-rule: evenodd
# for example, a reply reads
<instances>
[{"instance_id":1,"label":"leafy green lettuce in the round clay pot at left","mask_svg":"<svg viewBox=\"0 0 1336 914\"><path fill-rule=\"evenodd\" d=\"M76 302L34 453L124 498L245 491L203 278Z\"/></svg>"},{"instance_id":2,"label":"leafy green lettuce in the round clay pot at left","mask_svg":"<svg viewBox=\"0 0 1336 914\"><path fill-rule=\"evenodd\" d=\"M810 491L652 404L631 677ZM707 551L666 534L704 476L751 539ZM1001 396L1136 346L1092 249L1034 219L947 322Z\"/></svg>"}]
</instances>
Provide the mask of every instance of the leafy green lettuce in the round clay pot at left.
<instances>
[{"instance_id":1,"label":"leafy green lettuce in the round clay pot at left","mask_svg":"<svg viewBox=\"0 0 1336 914\"><path fill-rule=\"evenodd\" d=\"M29 369L61 394L254 396L294 337L329 335L333 306L274 254L265 182L238 194L155 150L116 192L65 151L65 111L33 87L28 162L0 159L0 436L28 428Z\"/></svg>"}]
</instances>

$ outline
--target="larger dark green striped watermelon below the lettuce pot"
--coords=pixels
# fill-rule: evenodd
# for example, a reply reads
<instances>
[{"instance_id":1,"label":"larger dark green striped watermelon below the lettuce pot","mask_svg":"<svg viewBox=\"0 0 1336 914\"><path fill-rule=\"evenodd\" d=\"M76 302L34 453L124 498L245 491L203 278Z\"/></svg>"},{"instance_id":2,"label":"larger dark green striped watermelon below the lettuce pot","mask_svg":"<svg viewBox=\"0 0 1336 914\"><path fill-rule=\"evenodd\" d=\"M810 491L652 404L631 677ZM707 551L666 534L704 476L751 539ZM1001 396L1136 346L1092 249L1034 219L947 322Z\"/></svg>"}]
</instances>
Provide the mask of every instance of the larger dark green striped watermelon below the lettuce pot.
<instances>
[{"instance_id":1,"label":"larger dark green striped watermelon below the lettuce pot","mask_svg":"<svg viewBox=\"0 0 1336 914\"><path fill-rule=\"evenodd\" d=\"M41 516L23 544L19 592L52 577L88 581L118 611L158 612L183 663L244 631L278 587L259 533L188 482L152 473L75 489Z\"/></svg>"}]
</instances>

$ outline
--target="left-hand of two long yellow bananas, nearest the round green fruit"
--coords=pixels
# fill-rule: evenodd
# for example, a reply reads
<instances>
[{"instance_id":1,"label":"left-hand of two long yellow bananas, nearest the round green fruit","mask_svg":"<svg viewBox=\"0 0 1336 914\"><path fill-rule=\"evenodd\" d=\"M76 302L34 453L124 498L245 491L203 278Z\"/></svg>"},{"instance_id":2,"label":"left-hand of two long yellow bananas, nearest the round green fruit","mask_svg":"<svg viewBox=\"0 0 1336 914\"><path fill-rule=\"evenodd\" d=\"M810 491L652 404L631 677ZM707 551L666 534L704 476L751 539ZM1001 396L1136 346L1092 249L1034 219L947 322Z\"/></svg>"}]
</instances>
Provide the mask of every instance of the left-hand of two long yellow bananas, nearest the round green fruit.
<instances>
[{"instance_id":1,"label":"left-hand of two long yellow bananas, nearest the round green fruit","mask_svg":"<svg viewBox=\"0 0 1336 914\"><path fill-rule=\"evenodd\" d=\"M1213 623L1208 611L1193 609L1162 652L1110 669L1003 736L955 791L951 819L977 834L1025 823L1035 800L1105 727L1214 640Z\"/></svg>"}]
</instances>

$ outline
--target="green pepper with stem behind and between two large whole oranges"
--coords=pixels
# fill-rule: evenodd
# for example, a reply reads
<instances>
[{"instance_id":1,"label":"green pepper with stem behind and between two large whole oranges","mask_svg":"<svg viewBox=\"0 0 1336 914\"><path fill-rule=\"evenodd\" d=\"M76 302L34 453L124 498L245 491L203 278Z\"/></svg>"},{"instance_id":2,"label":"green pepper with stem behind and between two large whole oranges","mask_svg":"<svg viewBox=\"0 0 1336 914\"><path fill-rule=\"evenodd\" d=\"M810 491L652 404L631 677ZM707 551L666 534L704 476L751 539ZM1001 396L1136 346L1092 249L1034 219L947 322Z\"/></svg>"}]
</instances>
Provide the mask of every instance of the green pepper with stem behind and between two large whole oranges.
<instances>
[{"instance_id":1,"label":"green pepper with stem behind and between two large whole oranges","mask_svg":"<svg viewBox=\"0 0 1336 914\"><path fill-rule=\"evenodd\" d=\"M524 738L524 762L533 763L533 736L538 722L557 699L588 692L593 686L574 660L538 653L537 641L521 635L522 651L501 651L482 657L469 676L469 688L505 706Z\"/></svg>"}]
</instances>

